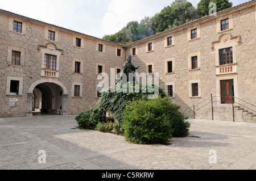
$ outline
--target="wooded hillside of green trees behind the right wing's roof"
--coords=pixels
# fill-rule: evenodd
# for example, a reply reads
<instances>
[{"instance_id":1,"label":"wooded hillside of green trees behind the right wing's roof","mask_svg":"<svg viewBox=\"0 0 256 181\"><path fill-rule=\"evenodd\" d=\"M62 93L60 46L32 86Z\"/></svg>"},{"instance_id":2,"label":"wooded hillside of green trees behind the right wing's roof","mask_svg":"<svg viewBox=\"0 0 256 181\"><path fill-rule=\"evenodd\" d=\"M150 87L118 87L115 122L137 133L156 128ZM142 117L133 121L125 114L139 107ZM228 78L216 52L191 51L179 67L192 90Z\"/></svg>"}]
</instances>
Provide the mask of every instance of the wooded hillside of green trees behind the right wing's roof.
<instances>
[{"instance_id":1,"label":"wooded hillside of green trees behind the right wing's roof","mask_svg":"<svg viewBox=\"0 0 256 181\"><path fill-rule=\"evenodd\" d=\"M105 35L102 39L123 45L133 43L208 15L210 2L216 3L217 11L232 7L232 2L228 0L201 0L197 9L187 0L175 0L151 18L146 16L140 23L131 21L121 31L114 35Z\"/></svg>"}]
</instances>

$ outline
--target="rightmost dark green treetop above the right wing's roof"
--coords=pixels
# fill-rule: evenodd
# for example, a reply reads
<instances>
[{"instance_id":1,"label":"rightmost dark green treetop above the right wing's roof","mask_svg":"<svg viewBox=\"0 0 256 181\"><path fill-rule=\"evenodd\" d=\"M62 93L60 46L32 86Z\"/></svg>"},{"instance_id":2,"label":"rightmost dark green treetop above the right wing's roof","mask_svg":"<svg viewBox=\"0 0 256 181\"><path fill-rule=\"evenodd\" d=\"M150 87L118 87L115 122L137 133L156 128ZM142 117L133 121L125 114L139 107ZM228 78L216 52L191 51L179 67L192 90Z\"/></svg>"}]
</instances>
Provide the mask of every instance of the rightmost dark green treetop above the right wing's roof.
<instances>
[{"instance_id":1,"label":"rightmost dark green treetop above the right wing's roof","mask_svg":"<svg viewBox=\"0 0 256 181\"><path fill-rule=\"evenodd\" d=\"M201 16L209 15L209 10L212 8L209 7L210 2L216 3L217 12L228 9L233 5L232 2L229 2L228 0L201 0L197 4L197 9L199 10Z\"/></svg>"}]
</instances>

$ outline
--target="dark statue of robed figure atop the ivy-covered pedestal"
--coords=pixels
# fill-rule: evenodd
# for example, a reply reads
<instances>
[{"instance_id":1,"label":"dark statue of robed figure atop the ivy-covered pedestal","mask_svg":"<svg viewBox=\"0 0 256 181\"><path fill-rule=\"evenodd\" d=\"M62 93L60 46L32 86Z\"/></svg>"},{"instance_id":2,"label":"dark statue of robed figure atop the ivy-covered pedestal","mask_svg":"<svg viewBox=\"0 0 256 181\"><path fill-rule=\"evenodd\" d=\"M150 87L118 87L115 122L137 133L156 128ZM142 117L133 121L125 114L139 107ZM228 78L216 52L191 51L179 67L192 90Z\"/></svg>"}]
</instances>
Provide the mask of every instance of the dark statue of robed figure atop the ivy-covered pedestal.
<instances>
[{"instance_id":1,"label":"dark statue of robed figure atop the ivy-covered pedestal","mask_svg":"<svg viewBox=\"0 0 256 181\"><path fill-rule=\"evenodd\" d=\"M123 80L123 77L125 77L124 75L126 75L126 83L129 82L129 73L135 73L135 70L139 69L139 66L134 66L131 63L131 55L128 56L127 58L128 58L128 60L125 62L125 64L123 64L123 71L121 74L121 78L117 83L122 84L124 82L124 80ZM117 84L117 83L115 83L115 84Z\"/></svg>"}]
</instances>

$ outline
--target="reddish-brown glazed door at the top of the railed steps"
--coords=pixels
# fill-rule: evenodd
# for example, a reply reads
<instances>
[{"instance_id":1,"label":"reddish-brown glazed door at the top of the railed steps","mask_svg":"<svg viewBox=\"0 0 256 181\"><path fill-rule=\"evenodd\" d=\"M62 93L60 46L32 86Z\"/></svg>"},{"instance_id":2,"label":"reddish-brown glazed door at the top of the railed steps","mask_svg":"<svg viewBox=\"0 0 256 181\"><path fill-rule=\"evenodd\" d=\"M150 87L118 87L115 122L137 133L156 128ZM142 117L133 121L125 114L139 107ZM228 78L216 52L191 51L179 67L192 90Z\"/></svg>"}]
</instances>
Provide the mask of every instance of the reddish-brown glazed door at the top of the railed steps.
<instances>
[{"instance_id":1,"label":"reddish-brown glazed door at the top of the railed steps","mask_svg":"<svg viewBox=\"0 0 256 181\"><path fill-rule=\"evenodd\" d=\"M221 104L232 104L234 98L234 80L221 81Z\"/></svg>"}]
</instances>

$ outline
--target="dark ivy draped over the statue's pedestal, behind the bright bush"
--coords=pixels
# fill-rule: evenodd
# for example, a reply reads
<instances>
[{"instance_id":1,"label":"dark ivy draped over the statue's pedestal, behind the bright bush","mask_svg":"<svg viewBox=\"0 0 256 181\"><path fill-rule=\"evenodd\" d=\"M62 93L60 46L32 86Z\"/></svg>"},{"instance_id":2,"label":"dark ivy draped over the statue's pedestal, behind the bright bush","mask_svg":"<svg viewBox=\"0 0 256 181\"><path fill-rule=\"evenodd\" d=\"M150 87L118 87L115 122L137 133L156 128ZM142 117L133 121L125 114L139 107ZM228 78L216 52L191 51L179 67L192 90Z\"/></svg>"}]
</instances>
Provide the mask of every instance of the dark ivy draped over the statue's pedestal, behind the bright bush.
<instances>
[{"instance_id":1,"label":"dark ivy draped over the statue's pedestal, behind the bright bush","mask_svg":"<svg viewBox=\"0 0 256 181\"><path fill-rule=\"evenodd\" d=\"M122 85L120 89L123 89ZM154 89L155 85L151 85L151 87ZM111 90L115 88L114 92L111 92ZM148 89L148 86L146 90L143 90L142 85L133 86L133 89L138 89L137 92L129 92L129 84L127 84L127 93L123 91L119 91L118 86L110 87L108 90L102 92L101 98L97 103L97 107L101 112L106 112L108 110L112 111L115 119L118 121L119 124L119 131L123 131L123 112L125 111L126 104L128 104L130 101L141 99L145 95L154 94L154 92L150 92ZM163 89L160 89L160 87L156 87L156 89L159 90L159 95L164 97L166 96L166 92L163 91Z\"/></svg>"}]
</instances>

